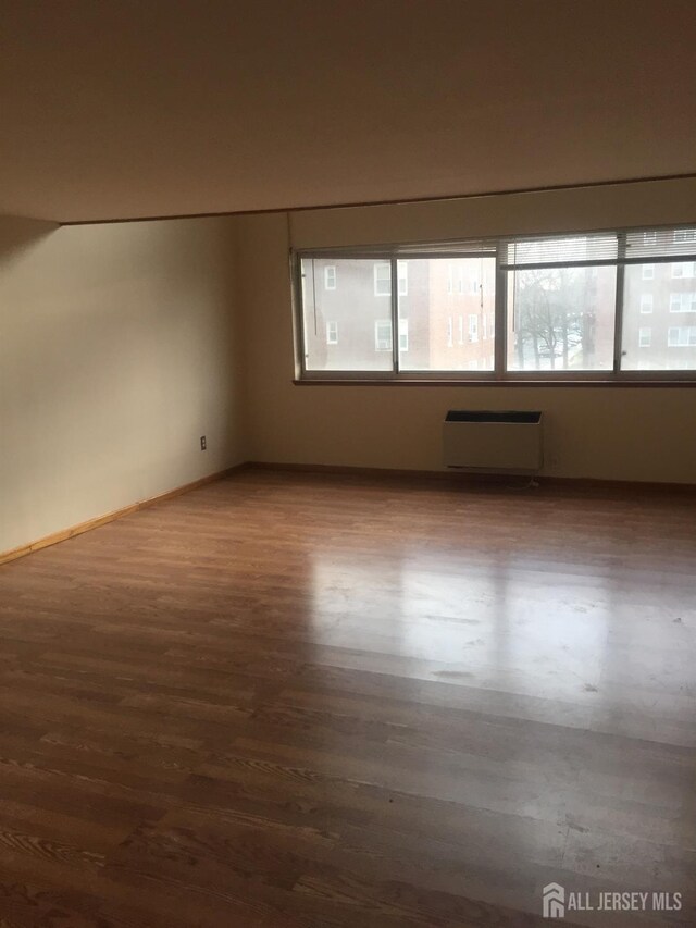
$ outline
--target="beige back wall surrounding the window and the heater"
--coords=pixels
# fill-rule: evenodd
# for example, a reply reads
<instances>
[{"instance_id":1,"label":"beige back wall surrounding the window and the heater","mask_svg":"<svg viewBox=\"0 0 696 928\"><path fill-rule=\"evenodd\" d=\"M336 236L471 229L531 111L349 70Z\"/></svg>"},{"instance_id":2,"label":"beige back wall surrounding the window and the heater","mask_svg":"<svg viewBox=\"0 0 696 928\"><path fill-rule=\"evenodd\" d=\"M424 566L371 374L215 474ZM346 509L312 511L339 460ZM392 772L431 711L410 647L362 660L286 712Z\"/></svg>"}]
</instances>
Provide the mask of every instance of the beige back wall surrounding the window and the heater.
<instances>
[{"instance_id":1,"label":"beige back wall surrounding the window and the heater","mask_svg":"<svg viewBox=\"0 0 696 928\"><path fill-rule=\"evenodd\" d=\"M545 473L696 483L696 388L294 386L287 251L514 232L693 222L696 182L660 182L239 219L248 454L440 470L449 408L542 409Z\"/></svg>"}]
</instances>

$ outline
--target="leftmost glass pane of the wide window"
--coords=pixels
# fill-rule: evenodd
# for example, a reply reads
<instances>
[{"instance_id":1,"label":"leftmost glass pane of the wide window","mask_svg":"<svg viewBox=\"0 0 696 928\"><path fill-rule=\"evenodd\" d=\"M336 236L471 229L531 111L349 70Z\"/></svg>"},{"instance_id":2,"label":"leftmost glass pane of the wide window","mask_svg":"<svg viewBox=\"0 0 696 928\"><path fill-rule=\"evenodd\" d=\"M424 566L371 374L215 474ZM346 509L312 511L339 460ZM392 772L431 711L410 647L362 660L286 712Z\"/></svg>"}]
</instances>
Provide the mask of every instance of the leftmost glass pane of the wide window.
<instances>
[{"instance_id":1,"label":"leftmost glass pane of the wide window","mask_svg":"<svg viewBox=\"0 0 696 928\"><path fill-rule=\"evenodd\" d=\"M393 369L390 274L384 260L302 259L308 371Z\"/></svg>"}]
</instances>

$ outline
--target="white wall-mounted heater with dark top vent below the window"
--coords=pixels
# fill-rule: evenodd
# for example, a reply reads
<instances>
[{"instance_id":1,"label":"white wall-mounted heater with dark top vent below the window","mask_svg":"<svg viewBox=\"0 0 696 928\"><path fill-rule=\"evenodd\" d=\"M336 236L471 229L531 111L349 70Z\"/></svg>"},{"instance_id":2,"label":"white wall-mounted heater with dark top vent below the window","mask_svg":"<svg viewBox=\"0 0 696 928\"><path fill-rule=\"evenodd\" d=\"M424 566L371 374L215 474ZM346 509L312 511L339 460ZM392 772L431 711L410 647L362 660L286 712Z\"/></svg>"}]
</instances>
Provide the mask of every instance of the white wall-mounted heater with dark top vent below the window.
<instances>
[{"instance_id":1,"label":"white wall-mounted heater with dark top vent below the window","mask_svg":"<svg viewBox=\"0 0 696 928\"><path fill-rule=\"evenodd\" d=\"M488 473L537 473L544 463L540 412L450 409L443 423L445 467Z\"/></svg>"}]
</instances>

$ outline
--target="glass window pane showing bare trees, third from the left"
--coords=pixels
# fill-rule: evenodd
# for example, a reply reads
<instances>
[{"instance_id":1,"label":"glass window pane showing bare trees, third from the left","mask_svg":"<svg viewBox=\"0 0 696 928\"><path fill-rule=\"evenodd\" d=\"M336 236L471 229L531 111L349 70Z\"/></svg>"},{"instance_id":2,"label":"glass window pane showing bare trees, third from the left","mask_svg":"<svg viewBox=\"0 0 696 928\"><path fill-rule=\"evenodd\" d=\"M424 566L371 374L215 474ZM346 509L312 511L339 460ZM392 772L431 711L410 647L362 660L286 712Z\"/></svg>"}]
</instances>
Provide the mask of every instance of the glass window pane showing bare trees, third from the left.
<instances>
[{"instance_id":1,"label":"glass window pane showing bare trees, third from the left","mask_svg":"<svg viewBox=\"0 0 696 928\"><path fill-rule=\"evenodd\" d=\"M611 371L617 269L508 274L509 371Z\"/></svg>"}]
</instances>

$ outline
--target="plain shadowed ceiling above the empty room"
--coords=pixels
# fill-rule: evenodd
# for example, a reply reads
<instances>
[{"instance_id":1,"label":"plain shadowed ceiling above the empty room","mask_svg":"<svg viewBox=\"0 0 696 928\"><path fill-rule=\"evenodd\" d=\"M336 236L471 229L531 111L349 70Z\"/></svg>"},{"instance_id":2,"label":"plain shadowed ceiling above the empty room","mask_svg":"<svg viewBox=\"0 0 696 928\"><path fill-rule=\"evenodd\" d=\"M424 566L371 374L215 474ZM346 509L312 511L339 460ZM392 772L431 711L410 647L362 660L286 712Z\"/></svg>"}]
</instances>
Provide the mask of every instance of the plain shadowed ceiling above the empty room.
<instances>
[{"instance_id":1,"label":"plain shadowed ceiling above the empty room","mask_svg":"<svg viewBox=\"0 0 696 928\"><path fill-rule=\"evenodd\" d=\"M3 0L0 33L0 213L696 172L696 0Z\"/></svg>"}]
</instances>

